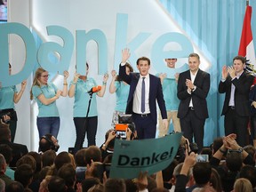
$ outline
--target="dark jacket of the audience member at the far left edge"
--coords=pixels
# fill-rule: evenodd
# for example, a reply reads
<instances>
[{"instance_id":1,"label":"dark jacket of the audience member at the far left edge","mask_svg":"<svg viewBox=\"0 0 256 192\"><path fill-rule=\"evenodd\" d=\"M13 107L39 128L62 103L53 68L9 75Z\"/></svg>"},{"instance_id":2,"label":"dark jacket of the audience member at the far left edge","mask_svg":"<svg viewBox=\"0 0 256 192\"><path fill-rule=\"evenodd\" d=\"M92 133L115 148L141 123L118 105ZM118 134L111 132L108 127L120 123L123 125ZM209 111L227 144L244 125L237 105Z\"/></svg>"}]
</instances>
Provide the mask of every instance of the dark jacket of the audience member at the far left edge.
<instances>
[{"instance_id":1,"label":"dark jacket of the audience member at the far left edge","mask_svg":"<svg viewBox=\"0 0 256 192\"><path fill-rule=\"evenodd\" d=\"M12 143L9 140L0 140L0 144L7 144L12 148L12 161L9 164L10 167L16 167L16 163L20 157L28 154L28 148L25 145Z\"/></svg>"}]
</instances>

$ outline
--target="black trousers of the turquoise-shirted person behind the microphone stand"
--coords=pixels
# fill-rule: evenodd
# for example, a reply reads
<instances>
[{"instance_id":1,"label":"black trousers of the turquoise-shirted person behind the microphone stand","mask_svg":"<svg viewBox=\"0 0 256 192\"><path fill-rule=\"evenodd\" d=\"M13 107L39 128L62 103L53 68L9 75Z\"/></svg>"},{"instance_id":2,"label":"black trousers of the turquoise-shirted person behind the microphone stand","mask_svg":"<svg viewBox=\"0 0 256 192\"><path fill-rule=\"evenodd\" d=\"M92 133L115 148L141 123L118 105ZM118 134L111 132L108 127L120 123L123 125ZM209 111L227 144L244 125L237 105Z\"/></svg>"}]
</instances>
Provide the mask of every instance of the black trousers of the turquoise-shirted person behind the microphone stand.
<instances>
[{"instance_id":1,"label":"black trousers of the turquoise-shirted person behind the microphone stand","mask_svg":"<svg viewBox=\"0 0 256 192\"><path fill-rule=\"evenodd\" d=\"M83 148L85 134L87 133L88 147L96 145L96 132L98 125L98 116L92 116L87 118L85 124L85 117L74 117L74 124L76 126L76 143L74 148L74 154L76 151Z\"/></svg>"}]
</instances>

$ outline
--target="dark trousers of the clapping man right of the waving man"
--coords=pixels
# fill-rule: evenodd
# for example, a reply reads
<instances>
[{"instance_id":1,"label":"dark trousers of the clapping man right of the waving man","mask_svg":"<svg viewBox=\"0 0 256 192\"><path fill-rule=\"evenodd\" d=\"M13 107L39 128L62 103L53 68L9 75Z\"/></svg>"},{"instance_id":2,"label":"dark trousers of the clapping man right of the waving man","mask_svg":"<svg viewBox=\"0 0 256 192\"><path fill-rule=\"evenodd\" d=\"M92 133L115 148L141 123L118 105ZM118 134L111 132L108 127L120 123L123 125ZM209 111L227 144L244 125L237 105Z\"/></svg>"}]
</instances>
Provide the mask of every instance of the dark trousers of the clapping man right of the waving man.
<instances>
[{"instance_id":1,"label":"dark trousers of the clapping man right of the waving man","mask_svg":"<svg viewBox=\"0 0 256 192\"><path fill-rule=\"evenodd\" d=\"M181 131L183 136L193 142L194 140L198 147L198 152L204 147L204 122L205 119L199 119L194 110L188 110L188 114L184 118L180 118Z\"/></svg>"}]
</instances>

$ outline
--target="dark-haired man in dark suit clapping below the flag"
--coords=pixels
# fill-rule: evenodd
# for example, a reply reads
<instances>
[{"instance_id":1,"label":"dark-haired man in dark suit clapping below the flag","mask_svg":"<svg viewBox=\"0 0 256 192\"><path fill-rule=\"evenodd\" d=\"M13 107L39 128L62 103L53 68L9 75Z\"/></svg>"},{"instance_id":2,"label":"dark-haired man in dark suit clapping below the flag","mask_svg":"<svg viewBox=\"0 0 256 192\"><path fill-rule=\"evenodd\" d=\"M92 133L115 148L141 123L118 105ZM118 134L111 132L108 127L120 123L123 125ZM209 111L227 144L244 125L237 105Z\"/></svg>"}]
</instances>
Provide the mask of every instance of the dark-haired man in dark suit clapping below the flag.
<instances>
[{"instance_id":1,"label":"dark-haired man in dark suit clapping below the flag","mask_svg":"<svg viewBox=\"0 0 256 192\"><path fill-rule=\"evenodd\" d=\"M236 133L237 143L247 145L247 125L250 116L249 92L253 76L244 71L246 59L236 56L233 66L223 66L219 92L226 93L221 115L224 118L225 135Z\"/></svg>"}]
</instances>

